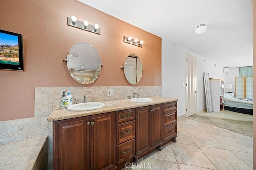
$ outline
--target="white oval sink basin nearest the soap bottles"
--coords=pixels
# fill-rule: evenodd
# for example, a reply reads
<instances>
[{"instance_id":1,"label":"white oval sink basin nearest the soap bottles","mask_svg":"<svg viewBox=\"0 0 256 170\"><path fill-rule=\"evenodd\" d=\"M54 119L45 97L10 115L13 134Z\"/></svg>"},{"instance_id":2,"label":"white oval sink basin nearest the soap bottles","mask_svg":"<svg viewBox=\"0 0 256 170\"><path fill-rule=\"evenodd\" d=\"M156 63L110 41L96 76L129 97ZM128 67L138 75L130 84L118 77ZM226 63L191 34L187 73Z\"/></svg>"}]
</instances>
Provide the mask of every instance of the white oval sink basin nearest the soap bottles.
<instances>
[{"instance_id":1,"label":"white oval sink basin nearest the soap bottles","mask_svg":"<svg viewBox=\"0 0 256 170\"><path fill-rule=\"evenodd\" d=\"M87 102L87 103L78 103L74 105L68 106L68 111L91 111L100 109L104 106L103 103L100 102Z\"/></svg>"}]
</instances>

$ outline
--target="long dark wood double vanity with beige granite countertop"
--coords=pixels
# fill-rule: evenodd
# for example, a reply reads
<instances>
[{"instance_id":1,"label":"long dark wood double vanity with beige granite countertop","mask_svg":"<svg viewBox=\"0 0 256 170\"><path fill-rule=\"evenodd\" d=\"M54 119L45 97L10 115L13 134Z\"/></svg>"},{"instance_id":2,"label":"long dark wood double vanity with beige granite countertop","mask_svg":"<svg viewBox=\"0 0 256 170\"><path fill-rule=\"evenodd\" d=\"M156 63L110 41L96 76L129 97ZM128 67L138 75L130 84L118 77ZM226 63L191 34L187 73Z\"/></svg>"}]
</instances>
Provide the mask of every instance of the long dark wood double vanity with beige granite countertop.
<instances>
[{"instance_id":1,"label":"long dark wood double vanity with beige granite countertop","mask_svg":"<svg viewBox=\"0 0 256 170\"><path fill-rule=\"evenodd\" d=\"M47 119L53 121L53 169L121 169L176 142L178 99L150 98L102 101L92 111L54 109Z\"/></svg>"}]
</instances>

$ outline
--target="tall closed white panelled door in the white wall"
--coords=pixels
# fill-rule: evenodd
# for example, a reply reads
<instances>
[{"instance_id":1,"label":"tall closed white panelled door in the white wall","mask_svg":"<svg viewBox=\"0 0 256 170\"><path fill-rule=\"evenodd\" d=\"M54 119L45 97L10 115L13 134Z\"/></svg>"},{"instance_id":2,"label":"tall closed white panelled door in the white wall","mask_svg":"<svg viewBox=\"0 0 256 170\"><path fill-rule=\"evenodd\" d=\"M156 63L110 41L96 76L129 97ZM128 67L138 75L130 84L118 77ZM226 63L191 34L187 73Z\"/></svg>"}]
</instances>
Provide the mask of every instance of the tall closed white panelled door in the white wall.
<instances>
[{"instance_id":1,"label":"tall closed white panelled door in the white wall","mask_svg":"<svg viewBox=\"0 0 256 170\"><path fill-rule=\"evenodd\" d=\"M197 58L186 54L186 117L197 113Z\"/></svg>"}]
</instances>

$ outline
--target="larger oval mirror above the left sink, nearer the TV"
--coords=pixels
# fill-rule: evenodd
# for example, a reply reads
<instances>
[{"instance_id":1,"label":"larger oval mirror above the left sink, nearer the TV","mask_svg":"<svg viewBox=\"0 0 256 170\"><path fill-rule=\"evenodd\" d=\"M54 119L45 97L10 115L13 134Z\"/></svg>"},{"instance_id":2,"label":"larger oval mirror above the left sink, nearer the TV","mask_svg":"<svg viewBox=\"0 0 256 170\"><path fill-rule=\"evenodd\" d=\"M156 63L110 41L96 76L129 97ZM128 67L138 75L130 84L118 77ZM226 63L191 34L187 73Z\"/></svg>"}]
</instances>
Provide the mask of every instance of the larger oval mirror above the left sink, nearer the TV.
<instances>
[{"instance_id":1,"label":"larger oval mirror above the left sink, nearer the TV","mask_svg":"<svg viewBox=\"0 0 256 170\"><path fill-rule=\"evenodd\" d=\"M67 55L70 75L78 83L90 84L96 81L102 67L98 51L89 43L75 43Z\"/></svg>"}]
</instances>

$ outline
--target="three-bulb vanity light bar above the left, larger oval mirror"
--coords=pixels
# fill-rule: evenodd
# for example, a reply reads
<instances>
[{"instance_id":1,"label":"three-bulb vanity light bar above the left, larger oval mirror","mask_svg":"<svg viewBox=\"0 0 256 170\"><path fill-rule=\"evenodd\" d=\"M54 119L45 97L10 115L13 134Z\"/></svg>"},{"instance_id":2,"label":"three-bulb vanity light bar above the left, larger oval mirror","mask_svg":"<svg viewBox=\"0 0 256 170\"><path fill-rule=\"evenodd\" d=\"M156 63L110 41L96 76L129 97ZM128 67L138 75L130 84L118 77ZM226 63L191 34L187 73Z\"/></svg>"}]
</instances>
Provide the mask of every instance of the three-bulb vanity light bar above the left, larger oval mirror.
<instances>
[{"instance_id":1,"label":"three-bulb vanity light bar above the left, larger oval mirror","mask_svg":"<svg viewBox=\"0 0 256 170\"><path fill-rule=\"evenodd\" d=\"M93 26L93 25L89 24L89 22L86 20L84 22L78 21L78 20L76 20L76 16L72 16L71 18L68 17L68 26L72 26L72 27L79 28L81 30L100 34L100 27L98 24L95 24Z\"/></svg>"}]
</instances>

